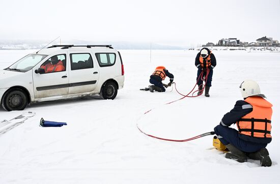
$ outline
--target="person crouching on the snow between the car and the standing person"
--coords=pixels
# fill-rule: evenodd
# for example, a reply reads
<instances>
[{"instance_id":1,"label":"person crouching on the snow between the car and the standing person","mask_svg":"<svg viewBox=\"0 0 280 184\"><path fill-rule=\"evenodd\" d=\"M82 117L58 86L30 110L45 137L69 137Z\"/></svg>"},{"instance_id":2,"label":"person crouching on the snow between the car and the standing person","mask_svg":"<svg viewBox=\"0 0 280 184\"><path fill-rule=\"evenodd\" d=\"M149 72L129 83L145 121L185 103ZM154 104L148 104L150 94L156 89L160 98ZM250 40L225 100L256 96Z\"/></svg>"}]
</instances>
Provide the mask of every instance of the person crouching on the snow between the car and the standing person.
<instances>
[{"instance_id":1,"label":"person crouching on the snow between the car and the standing person","mask_svg":"<svg viewBox=\"0 0 280 184\"><path fill-rule=\"evenodd\" d=\"M162 81L166 76L170 78L170 82L169 84L165 85L165 87L171 86L171 83L174 80L173 74L170 73L164 66L157 66L153 74L150 76L150 83L153 85L149 86L149 90L151 92L154 92L154 90L158 92L164 92L165 89Z\"/></svg>"}]
</instances>

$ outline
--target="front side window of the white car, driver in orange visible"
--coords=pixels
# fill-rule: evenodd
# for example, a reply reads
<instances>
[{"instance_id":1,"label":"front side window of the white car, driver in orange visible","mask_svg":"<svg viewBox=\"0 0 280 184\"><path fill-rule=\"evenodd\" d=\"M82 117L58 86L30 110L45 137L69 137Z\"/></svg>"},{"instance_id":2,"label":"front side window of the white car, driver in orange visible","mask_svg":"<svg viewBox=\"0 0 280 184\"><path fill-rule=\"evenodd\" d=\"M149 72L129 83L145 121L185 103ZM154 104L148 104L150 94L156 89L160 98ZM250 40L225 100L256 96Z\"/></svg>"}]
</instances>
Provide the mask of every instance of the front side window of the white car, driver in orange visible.
<instances>
[{"instance_id":1,"label":"front side window of the white car, driver in orange visible","mask_svg":"<svg viewBox=\"0 0 280 184\"><path fill-rule=\"evenodd\" d=\"M45 73L52 73L58 71L65 71L66 68L66 55L60 54L50 57L41 66Z\"/></svg>"}]
</instances>

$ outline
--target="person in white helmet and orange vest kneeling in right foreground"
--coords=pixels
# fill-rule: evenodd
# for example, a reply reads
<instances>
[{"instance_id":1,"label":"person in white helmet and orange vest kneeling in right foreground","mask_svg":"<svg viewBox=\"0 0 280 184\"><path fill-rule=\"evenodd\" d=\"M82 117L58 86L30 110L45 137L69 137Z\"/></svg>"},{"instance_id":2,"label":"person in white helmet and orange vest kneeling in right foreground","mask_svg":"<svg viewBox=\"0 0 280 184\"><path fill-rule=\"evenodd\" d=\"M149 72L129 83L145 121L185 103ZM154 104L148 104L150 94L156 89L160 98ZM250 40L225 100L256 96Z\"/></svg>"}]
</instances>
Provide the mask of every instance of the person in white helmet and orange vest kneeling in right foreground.
<instances>
[{"instance_id":1,"label":"person in white helmet and orange vest kneeling in right foreground","mask_svg":"<svg viewBox=\"0 0 280 184\"><path fill-rule=\"evenodd\" d=\"M260 160L261 166L271 166L266 149L271 142L272 104L261 94L259 85L245 80L240 85L244 100L238 100L234 108L223 116L215 134L231 153L226 158L246 162L247 157ZM236 129L229 126L236 124Z\"/></svg>"}]
</instances>

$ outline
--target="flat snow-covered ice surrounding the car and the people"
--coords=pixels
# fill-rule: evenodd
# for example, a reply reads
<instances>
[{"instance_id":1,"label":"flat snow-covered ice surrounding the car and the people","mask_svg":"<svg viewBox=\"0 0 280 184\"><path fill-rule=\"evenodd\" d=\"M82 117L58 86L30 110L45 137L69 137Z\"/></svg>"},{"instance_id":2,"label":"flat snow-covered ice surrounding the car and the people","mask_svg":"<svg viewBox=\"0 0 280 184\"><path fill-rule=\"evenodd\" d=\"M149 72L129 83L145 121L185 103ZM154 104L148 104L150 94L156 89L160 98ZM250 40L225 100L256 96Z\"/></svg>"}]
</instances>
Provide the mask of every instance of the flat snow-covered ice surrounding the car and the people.
<instances>
[{"instance_id":1,"label":"flat snow-covered ice surrounding the car and the people","mask_svg":"<svg viewBox=\"0 0 280 184\"><path fill-rule=\"evenodd\" d=\"M5 68L32 50L0 51ZM217 50L210 98L181 98L175 89L150 93L149 76L164 65L175 76L177 89L187 94L195 84L198 51L121 50L125 86L115 100L87 97L41 102L23 112L36 112L0 134L0 183L280 183L280 52ZM267 146L272 166L248 160L238 163L212 148L212 137L188 142L154 139L145 132L186 139L212 131L237 100L245 79L257 81L273 104L272 142ZM167 80L167 81L166 81ZM166 82L168 78L166 78ZM144 115L146 111L153 109ZM22 112L0 109L0 120ZM40 119L67 122L40 127Z\"/></svg>"}]
</instances>

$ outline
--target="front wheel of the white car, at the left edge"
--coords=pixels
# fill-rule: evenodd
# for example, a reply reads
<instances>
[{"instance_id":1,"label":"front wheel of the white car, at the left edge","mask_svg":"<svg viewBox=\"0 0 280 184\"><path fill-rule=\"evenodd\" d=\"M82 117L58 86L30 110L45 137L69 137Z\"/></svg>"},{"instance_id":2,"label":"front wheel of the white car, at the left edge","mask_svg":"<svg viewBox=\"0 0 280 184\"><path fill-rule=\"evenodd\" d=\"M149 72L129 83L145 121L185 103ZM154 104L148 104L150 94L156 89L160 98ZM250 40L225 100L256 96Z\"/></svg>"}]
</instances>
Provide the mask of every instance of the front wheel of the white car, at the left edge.
<instances>
[{"instance_id":1,"label":"front wheel of the white car, at the left edge","mask_svg":"<svg viewBox=\"0 0 280 184\"><path fill-rule=\"evenodd\" d=\"M1 105L6 111L22 111L27 105L27 96L20 89L9 90L3 95Z\"/></svg>"}]
</instances>

